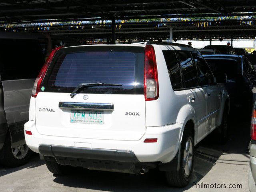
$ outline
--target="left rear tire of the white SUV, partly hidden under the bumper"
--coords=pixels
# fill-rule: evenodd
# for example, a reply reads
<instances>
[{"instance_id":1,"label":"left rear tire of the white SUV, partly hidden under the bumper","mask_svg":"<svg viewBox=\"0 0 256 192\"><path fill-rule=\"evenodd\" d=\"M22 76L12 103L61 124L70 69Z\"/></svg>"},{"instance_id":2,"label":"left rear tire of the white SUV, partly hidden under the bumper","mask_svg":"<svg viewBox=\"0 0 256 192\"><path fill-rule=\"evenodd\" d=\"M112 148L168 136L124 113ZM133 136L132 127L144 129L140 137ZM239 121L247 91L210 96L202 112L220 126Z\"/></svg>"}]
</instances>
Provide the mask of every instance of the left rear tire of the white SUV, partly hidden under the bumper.
<instances>
[{"instance_id":1,"label":"left rear tire of the white SUV, partly hidden under the bumper","mask_svg":"<svg viewBox=\"0 0 256 192\"><path fill-rule=\"evenodd\" d=\"M60 165L56 162L56 160L54 161L45 161L46 166L48 168L48 170L50 172L52 172L53 174L56 175L66 175L66 174L70 174L71 172L71 167L70 166L64 166L64 165Z\"/></svg>"}]
</instances>

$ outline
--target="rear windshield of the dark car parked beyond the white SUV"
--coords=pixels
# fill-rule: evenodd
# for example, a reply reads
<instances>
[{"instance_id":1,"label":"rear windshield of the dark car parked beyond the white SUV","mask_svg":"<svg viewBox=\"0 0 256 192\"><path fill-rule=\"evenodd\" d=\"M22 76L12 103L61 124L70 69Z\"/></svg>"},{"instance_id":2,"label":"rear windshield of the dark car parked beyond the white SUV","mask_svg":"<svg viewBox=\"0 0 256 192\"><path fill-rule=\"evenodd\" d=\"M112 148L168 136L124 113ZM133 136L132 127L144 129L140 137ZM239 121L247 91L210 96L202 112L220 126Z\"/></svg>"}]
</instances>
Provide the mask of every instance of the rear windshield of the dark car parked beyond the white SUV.
<instances>
[{"instance_id":1,"label":"rear windshield of the dark car parked beyond the white SUV","mask_svg":"<svg viewBox=\"0 0 256 192\"><path fill-rule=\"evenodd\" d=\"M205 58L214 74L226 73L228 79L235 78L239 71L237 60L231 59L207 59Z\"/></svg>"}]
</instances>

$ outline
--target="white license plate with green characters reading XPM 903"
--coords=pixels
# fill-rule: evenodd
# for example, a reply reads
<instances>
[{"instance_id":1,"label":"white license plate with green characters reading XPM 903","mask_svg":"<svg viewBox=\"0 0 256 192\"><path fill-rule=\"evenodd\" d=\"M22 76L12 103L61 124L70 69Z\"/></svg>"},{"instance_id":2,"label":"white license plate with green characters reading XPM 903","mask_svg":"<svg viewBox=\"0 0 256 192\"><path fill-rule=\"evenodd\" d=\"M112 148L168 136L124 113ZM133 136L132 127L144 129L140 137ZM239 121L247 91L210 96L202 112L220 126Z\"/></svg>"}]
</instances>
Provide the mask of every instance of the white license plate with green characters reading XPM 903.
<instances>
[{"instance_id":1,"label":"white license plate with green characters reading XPM 903","mask_svg":"<svg viewBox=\"0 0 256 192\"><path fill-rule=\"evenodd\" d=\"M104 111L71 110L71 123L103 124Z\"/></svg>"}]
</instances>

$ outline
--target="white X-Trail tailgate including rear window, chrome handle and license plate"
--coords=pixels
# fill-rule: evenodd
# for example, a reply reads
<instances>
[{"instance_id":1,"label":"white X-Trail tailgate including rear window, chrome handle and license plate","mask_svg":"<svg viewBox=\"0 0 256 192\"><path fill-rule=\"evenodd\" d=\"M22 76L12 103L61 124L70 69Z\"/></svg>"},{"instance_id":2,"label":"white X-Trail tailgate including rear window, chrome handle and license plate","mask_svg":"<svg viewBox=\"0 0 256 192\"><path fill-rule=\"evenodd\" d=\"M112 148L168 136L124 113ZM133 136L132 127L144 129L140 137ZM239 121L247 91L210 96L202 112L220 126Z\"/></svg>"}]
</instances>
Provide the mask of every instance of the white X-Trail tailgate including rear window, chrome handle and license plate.
<instances>
[{"instance_id":1,"label":"white X-Trail tailgate including rear window, chrome handle and license plate","mask_svg":"<svg viewBox=\"0 0 256 192\"><path fill-rule=\"evenodd\" d=\"M81 83L122 86L82 88ZM139 140L146 131L144 47L62 48L36 97L40 134L73 138Z\"/></svg>"}]
</instances>

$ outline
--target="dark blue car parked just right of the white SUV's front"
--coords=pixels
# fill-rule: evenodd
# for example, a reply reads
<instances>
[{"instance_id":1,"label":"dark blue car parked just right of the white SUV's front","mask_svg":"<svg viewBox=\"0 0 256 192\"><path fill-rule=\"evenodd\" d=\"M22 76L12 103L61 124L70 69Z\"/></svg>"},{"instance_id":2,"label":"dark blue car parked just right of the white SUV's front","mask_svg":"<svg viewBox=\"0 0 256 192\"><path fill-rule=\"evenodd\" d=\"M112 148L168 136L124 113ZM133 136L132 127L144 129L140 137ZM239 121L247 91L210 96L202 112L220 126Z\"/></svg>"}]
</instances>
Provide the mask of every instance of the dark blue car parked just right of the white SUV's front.
<instances>
[{"instance_id":1,"label":"dark blue car parked just right of the white SUV's front","mask_svg":"<svg viewBox=\"0 0 256 192\"><path fill-rule=\"evenodd\" d=\"M256 72L248 59L241 55L204 55L204 58L215 75L227 75L226 89L230 104L249 107L251 111L255 98Z\"/></svg>"}]
</instances>

